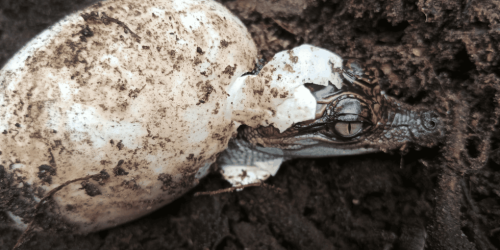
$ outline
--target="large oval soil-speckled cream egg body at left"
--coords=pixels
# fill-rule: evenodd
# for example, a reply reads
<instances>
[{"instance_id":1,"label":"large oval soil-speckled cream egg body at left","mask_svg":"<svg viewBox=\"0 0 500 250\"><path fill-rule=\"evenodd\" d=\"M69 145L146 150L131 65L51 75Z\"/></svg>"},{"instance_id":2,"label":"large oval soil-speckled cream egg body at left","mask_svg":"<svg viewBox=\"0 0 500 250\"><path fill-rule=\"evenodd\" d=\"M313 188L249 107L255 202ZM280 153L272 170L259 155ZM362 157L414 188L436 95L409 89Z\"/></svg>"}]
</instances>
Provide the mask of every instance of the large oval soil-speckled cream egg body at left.
<instances>
[{"instance_id":1,"label":"large oval soil-speckled cream egg body at left","mask_svg":"<svg viewBox=\"0 0 500 250\"><path fill-rule=\"evenodd\" d=\"M24 191L11 217L101 170L54 195L52 221L96 231L179 197L235 133L227 91L256 57L214 1L110 0L45 30L0 71L0 164Z\"/></svg>"}]
</instances>

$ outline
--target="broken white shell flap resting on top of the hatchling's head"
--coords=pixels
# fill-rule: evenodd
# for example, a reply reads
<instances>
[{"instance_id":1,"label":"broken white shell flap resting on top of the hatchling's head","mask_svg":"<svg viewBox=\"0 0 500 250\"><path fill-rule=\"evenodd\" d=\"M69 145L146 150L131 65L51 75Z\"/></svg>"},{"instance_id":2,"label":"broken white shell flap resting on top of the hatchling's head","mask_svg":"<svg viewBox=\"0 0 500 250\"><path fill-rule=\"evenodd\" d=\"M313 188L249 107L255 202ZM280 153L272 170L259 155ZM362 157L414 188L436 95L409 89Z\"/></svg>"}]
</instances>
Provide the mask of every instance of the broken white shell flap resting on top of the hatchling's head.
<instances>
[{"instance_id":1,"label":"broken white shell flap resting on top of the hatchling's head","mask_svg":"<svg viewBox=\"0 0 500 250\"><path fill-rule=\"evenodd\" d=\"M315 119L316 99L304 84L342 88L336 69L342 58L304 44L276 54L258 75L240 77L229 90L232 119L256 126L273 125L280 132L294 123Z\"/></svg>"}]
</instances>

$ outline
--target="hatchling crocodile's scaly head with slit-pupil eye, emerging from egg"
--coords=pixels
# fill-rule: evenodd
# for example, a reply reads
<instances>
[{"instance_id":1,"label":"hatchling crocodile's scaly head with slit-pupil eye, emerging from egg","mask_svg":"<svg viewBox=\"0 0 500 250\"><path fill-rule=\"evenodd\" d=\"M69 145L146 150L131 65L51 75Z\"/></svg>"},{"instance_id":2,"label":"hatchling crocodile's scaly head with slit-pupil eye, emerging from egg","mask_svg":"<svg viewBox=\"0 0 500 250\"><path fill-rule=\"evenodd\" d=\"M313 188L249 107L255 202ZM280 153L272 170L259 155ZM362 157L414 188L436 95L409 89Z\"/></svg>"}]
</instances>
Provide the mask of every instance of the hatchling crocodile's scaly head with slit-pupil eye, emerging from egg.
<instances>
[{"instance_id":1,"label":"hatchling crocodile's scaly head with slit-pupil eye, emerging from egg","mask_svg":"<svg viewBox=\"0 0 500 250\"><path fill-rule=\"evenodd\" d=\"M355 155L432 147L444 137L444 117L402 103L381 91L378 78L358 63L344 61L338 84L305 86L316 99L316 117L281 132L271 126L241 127L239 137L256 150L285 157Z\"/></svg>"}]
</instances>

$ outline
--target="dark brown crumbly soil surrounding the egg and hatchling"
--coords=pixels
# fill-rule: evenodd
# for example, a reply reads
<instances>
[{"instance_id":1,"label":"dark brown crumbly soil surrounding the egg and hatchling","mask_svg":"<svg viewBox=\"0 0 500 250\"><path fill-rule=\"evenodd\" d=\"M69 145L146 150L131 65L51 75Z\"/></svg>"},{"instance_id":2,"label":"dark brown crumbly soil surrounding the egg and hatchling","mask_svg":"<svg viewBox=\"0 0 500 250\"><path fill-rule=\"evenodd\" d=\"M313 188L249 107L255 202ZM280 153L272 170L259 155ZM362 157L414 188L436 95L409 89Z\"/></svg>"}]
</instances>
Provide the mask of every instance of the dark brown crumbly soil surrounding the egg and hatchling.
<instances>
[{"instance_id":1,"label":"dark brown crumbly soil surrounding the egg and hatchling","mask_svg":"<svg viewBox=\"0 0 500 250\"><path fill-rule=\"evenodd\" d=\"M94 0L0 0L0 66ZM285 163L265 187L215 196L217 174L142 219L24 249L499 249L500 2L222 1L265 59L309 43L371 65L390 95L448 117L431 149ZM401 160L403 158L403 160ZM0 250L21 232L2 226Z\"/></svg>"}]
</instances>

